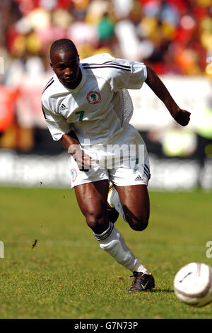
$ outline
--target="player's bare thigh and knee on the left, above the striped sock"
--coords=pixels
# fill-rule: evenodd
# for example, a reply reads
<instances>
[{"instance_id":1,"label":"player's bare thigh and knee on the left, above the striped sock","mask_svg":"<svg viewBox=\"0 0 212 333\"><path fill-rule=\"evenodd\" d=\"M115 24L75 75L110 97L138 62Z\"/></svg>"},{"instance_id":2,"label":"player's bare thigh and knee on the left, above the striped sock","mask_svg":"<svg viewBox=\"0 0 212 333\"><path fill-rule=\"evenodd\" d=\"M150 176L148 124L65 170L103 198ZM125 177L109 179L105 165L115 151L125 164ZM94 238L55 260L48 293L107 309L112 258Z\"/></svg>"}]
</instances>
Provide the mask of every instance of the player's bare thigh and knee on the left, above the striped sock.
<instances>
[{"instance_id":1,"label":"player's bare thigh and knee on the left, above the striped sock","mask_svg":"<svg viewBox=\"0 0 212 333\"><path fill-rule=\"evenodd\" d=\"M76 199L86 222L94 232L105 231L108 225L107 193L108 181L94 181L74 187Z\"/></svg>"}]
</instances>

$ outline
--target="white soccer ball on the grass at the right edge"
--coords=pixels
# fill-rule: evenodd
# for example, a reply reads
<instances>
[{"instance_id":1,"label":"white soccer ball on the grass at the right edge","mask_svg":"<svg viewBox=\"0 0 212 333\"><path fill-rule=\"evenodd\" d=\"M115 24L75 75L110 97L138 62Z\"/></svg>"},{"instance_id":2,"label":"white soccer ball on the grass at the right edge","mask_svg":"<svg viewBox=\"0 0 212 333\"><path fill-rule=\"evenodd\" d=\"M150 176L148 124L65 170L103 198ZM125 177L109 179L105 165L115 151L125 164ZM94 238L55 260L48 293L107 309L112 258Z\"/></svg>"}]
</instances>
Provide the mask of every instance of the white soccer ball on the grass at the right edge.
<instances>
[{"instance_id":1,"label":"white soccer ball on the grass at the right edge","mask_svg":"<svg viewBox=\"0 0 212 333\"><path fill-rule=\"evenodd\" d=\"M192 262L179 269L174 279L175 295L179 300L195 307L212 301L212 268Z\"/></svg>"}]
</instances>

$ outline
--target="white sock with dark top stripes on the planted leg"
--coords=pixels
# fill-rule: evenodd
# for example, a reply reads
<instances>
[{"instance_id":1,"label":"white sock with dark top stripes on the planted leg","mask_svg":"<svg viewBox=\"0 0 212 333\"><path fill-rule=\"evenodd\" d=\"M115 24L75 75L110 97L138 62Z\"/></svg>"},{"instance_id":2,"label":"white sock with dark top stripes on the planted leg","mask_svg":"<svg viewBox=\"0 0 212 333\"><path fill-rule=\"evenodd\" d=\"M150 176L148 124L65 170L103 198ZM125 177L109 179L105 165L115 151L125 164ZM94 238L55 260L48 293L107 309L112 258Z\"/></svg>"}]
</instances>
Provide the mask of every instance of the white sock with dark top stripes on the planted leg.
<instances>
[{"instance_id":1,"label":"white sock with dark top stripes on the planted leg","mask_svg":"<svg viewBox=\"0 0 212 333\"><path fill-rule=\"evenodd\" d=\"M131 252L124 242L119 230L110 222L109 227L102 234L94 234L99 241L101 249L110 254L119 264L130 271L148 273L139 259Z\"/></svg>"}]
</instances>

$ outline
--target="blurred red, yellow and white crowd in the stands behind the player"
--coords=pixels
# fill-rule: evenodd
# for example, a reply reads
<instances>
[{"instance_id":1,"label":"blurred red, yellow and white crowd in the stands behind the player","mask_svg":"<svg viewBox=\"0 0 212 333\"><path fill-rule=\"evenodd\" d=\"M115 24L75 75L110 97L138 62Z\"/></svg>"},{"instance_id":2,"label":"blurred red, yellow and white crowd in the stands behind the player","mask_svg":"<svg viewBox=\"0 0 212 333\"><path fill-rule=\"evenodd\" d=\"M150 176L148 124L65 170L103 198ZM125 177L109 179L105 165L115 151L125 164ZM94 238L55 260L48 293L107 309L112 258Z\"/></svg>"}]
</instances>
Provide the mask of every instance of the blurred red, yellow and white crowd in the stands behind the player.
<instances>
[{"instance_id":1,"label":"blurred red, yellow and white crowd in the stands behind the player","mask_svg":"<svg viewBox=\"0 0 212 333\"><path fill-rule=\"evenodd\" d=\"M59 38L73 40L81 59L108 52L159 75L212 77L211 0L1 0L1 148L30 151L47 142L40 95ZM206 123L203 136L212 142Z\"/></svg>"}]
</instances>

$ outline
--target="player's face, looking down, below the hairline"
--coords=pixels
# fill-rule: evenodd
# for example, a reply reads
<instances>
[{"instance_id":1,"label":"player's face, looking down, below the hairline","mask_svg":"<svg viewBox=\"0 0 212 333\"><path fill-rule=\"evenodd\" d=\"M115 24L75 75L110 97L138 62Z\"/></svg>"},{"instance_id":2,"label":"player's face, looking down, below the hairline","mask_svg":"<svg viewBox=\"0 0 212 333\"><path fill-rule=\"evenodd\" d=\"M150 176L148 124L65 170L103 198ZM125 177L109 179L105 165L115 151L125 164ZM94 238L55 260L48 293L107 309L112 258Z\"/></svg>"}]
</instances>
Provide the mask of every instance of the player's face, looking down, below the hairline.
<instances>
[{"instance_id":1,"label":"player's face, looking down, below the hairline","mask_svg":"<svg viewBox=\"0 0 212 333\"><path fill-rule=\"evenodd\" d=\"M75 89L81 81L82 74L79 67L79 57L74 51L54 52L51 67L61 84L69 89Z\"/></svg>"}]
</instances>

